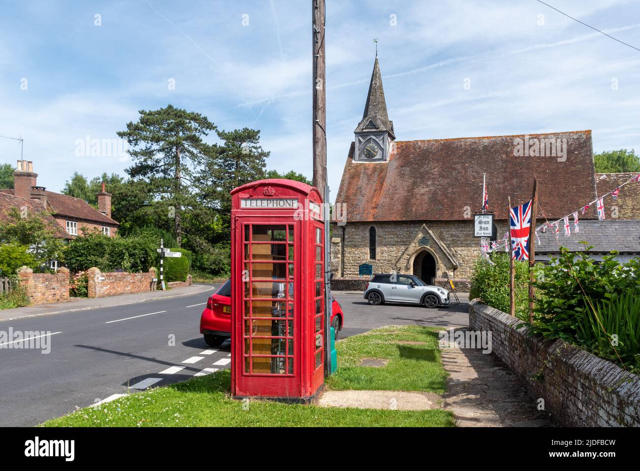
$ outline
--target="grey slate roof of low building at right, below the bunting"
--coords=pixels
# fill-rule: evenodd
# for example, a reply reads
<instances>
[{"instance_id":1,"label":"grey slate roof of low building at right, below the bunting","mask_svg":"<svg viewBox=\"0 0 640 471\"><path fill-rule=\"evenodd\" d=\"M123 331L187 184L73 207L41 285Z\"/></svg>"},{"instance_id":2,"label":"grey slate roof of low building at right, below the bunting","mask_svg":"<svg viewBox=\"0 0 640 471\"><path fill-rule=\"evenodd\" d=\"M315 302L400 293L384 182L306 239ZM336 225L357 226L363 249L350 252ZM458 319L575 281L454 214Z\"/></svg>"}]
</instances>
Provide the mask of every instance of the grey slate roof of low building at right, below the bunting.
<instances>
[{"instance_id":1,"label":"grey slate roof of low building at right, below the bunting","mask_svg":"<svg viewBox=\"0 0 640 471\"><path fill-rule=\"evenodd\" d=\"M600 188L598 188L600 190ZM621 253L640 254L640 220L585 220L580 221L580 232L573 233L573 220L571 220L572 235L564 237L564 229L560 229L559 242L572 252L584 251L584 244L593 245L591 252L618 251ZM539 233L540 243L536 244L536 254L559 252L558 242L552 231L545 234Z\"/></svg>"}]
</instances>

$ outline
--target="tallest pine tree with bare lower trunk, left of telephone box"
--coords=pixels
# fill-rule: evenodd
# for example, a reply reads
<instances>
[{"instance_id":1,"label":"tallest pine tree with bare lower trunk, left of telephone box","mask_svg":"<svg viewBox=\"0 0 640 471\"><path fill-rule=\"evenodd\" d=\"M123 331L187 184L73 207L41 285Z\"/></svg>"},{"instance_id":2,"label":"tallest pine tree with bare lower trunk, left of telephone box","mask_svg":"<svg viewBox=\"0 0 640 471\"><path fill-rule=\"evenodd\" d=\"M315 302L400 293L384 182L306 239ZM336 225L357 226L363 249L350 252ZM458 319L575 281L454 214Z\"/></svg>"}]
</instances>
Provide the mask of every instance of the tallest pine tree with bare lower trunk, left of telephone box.
<instances>
[{"instance_id":1,"label":"tallest pine tree with bare lower trunk, left of telephone box","mask_svg":"<svg viewBox=\"0 0 640 471\"><path fill-rule=\"evenodd\" d=\"M215 129L204 115L169 104L155 111L141 110L138 122L129 122L126 131L118 132L131 146L134 165L127 174L148 182L154 198L173 207L167 214L172 216L178 247L182 245L182 211L196 204L190 191L193 172L216 152L216 146L202 138Z\"/></svg>"}]
</instances>

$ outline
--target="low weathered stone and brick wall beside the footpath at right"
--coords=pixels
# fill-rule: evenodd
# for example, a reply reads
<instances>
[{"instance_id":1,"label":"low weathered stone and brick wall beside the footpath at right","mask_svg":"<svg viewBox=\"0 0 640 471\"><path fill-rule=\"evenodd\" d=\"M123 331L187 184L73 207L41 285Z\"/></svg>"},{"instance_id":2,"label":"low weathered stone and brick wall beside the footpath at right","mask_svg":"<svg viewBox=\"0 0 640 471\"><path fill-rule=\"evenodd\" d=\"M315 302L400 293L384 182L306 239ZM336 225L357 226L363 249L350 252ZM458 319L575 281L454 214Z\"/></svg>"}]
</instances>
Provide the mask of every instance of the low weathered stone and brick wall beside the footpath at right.
<instances>
[{"instance_id":1,"label":"low weathered stone and brick wall beside the footpath at right","mask_svg":"<svg viewBox=\"0 0 640 471\"><path fill-rule=\"evenodd\" d=\"M492 331L492 352L564 426L640 427L640 377L563 340L527 336L518 318L469 304L472 331Z\"/></svg>"}]
</instances>

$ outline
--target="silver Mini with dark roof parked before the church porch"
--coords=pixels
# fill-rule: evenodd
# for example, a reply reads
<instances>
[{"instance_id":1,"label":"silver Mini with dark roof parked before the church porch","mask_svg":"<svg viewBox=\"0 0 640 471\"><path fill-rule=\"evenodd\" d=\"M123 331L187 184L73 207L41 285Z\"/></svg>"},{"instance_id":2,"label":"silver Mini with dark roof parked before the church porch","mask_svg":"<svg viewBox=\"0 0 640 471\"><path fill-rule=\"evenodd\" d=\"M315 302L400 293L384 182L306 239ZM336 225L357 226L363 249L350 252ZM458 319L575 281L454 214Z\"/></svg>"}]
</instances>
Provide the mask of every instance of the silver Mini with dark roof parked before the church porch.
<instances>
[{"instance_id":1,"label":"silver Mini with dark roof parked before the church porch","mask_svg":"<svg viewBox=\"0 0 640 471\"><path fill-rule=\"evenodd\" d=\"M426 285L413 275L377 274L367 283L364 299L372 306L383 302L404 302L437 308L449 305L449 291L440 286Z\"/></svg>"}]
</instances>

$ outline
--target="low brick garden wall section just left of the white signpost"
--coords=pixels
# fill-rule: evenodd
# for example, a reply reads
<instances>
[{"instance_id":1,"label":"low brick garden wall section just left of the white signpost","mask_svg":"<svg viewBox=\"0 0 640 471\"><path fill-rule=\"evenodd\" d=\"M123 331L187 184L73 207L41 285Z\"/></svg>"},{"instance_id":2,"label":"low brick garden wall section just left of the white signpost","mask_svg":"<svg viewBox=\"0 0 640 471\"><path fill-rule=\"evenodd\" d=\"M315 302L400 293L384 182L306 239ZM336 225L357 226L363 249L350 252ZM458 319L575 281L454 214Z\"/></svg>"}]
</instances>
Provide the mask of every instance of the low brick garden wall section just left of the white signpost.
<instances>
[{"instance_id":1,"label":"low brick garden wall section just left of the white signpost","mask_svg":"<svg viewBox=\"0 0 640 471\"><path fill-rule=\"evenodd\" d=\"M156 270L152 268L147 273L102 273L99 269L92 267L87 270L87 275L89 279L87 296L93 298L151 291Z\"/></svg>"}]
</instances>

